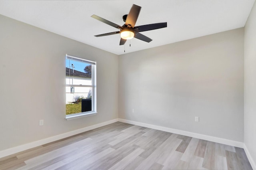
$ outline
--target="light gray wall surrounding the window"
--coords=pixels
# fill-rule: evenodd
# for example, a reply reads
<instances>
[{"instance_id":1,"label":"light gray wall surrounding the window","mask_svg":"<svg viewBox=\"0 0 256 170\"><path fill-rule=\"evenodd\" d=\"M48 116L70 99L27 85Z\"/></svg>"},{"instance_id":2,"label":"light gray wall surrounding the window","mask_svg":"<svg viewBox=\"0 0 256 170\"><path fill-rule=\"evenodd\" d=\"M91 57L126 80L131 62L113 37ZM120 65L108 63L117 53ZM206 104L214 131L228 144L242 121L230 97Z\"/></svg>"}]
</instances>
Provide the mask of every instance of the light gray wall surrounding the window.
<instances>
[{"instance_id":1,"label":"light gray wall surrounding the window","mask_svg":"<svg viewBox=\"0 0 256 170\"><path fill-rule=\"evenodd\" d=\"M0 30L0 150L118 117L117 55L1 15ZM97 61L96 116L65 119L66 53Z\"/></svg>"}]
</instances>

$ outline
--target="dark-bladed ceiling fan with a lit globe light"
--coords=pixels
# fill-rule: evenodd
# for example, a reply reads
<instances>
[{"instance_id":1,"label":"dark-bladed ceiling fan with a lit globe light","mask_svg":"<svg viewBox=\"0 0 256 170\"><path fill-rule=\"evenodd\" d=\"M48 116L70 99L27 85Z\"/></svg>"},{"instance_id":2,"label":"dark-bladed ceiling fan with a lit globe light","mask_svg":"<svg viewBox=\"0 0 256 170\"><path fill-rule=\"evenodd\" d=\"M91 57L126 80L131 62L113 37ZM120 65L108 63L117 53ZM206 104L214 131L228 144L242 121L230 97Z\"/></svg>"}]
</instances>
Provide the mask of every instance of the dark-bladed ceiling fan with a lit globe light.
<instances>
[{"instance_id":1,"label":"dark-bladed ceiling fan with a lit globe light","mask_svg":"<svg viewBox=\"0 0 256 170\"><path fill-rule=\"evenodd\" d=\"M149 30L156 30L156 29L159 29L159 28L165 28L165 27L167 27L167 22L147 24L147 25L143 25L143 26L135 26L135 23L136 23L136 21L138 19L138 16L140 14L140 9L141 9L140 6L137 6L137 5L133 4L129 14L123 16L123 20L125 22L125 24L123 26L119 26L118 24L115 24L113 22L105 20L104 18L101 18L99 16L92 15L91 16L92 18L95 18L96 20L104 22L105 24L108 24L108 25L113 26L115 28L118 28L120 30L120 31L116 31L116 32L109 32L109 33L106 33L106 34L96 35L95 37L109 36L109 35L113 35L113 34L120 34L121 40L120 40L119 45L124 45L126 40L130 40L132 38L137 38L137 39L142 40L144 42L151 42L152 39L148 38L147 36L144 36L144 35L140 34L139 32L149 31Z\"/></svg>"}]
</instances>

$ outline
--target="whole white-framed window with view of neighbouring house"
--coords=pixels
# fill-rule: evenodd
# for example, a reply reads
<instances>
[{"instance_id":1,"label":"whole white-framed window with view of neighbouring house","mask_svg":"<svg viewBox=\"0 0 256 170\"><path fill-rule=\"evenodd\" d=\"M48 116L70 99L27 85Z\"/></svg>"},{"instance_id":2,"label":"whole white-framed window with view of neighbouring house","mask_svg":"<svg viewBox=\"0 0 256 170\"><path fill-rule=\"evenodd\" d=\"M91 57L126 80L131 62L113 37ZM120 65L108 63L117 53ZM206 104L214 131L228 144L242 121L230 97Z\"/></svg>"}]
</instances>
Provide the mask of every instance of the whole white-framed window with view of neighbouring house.
<instances>
[{"instance_id":1,"label":"whole white-framed window with view of neighbouring house","mask_svg":"<svg viewBox=\"0 0 256 170\"><path fill-rule=\"evenodd\" d=\"M96 61L66 54L66 119L96 114Z\"/></svg>"}]
</instances>

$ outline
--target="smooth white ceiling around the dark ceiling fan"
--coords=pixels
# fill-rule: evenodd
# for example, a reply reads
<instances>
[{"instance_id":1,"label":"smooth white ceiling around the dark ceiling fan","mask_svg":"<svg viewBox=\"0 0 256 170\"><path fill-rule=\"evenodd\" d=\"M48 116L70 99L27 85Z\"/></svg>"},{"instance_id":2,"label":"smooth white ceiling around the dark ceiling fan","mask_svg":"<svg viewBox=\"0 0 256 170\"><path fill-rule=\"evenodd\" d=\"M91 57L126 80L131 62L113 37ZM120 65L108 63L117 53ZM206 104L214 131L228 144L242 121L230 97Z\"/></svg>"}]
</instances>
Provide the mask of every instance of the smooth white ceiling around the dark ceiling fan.
<instances>
[{"instance_id":1,"label":"smooth white ceiling around the dark ceiling fan","mask_svg":"<svg viewBox=\"0 0 256 170\"><path fill-rule=\"evenodd\" d=\"M0 0L0 14L115 54L124 53L118 31L94 18L123 25L132 4L141 6L135 26L167 22L167 28L142 32L153 41L136 38L126 53L244 27L255 0ZM129 42L131 47L129 47Z\"/></svg>"}]
</instances>

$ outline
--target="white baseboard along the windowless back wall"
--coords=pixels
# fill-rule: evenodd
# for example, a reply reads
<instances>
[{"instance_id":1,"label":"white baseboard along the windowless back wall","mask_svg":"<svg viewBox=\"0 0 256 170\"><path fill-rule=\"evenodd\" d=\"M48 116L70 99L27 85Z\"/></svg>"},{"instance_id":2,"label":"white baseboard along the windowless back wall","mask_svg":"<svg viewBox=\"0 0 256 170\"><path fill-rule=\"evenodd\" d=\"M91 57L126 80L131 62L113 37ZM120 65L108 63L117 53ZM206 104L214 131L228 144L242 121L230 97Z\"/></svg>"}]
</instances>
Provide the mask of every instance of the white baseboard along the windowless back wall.
<instances>
[{"instance_id":1,"label":"white baseboard along the windowless back wall","mask_svg":"<svg viewBox=\"0 0 256 170\"><path fill-rule=\"evenodd\" d=\"M156 129L156 130L162 130L162 131L165 131L165 132L181 134L181 135L184 135L184 136L190 136L190 137L193 137L193 138L199 138L199 139L203 139L203 140L217 142L217 143L221 143L221 144L226 144L226 145L230 145L230 146L236 146L236 147L239 147L239 148L244 148L244 143L243 142L238 142L238 141L234 141L234 140L228 140L228 139L224 139L224 138L218 138L218 137L214 137L214 136L208 136L208 135L204 135L204 134L198 134L198 133L188 132L188 131L184 131L184 130L178 130L178 129L174 129L174 128L167 128L167 127L161 127L161 126L157 126L157 125L150 125L150 124L147 124L147 123L140 123L140 122L130 121L130 120L126 120L126 119L118 119L118 121L123 122L123 123L129 123L129 124L132 124L132 125L138 125L138 126L142 126L142 127L153 128L153 129Z\"/></svg>"}]
</instances>

